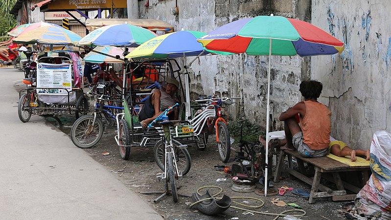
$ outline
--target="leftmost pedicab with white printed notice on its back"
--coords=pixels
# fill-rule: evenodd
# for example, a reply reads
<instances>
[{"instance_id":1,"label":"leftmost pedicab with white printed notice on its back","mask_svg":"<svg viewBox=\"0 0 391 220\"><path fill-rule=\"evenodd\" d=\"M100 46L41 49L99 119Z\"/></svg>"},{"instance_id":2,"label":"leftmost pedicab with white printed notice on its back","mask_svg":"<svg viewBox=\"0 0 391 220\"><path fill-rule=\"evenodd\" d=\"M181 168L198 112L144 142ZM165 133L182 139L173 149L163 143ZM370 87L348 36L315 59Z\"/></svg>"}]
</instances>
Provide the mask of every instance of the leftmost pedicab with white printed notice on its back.
<instances>
[{"instance_id":1,"label":"leftmost pedicab with white printed notice on its back","mask_svg":"<svg viewBox=\"0 0 391 220\"><path fill-rule=\"evenodd\" d=\"M89 103L83 92L79 56L72 51L56 50L38 54L36 79L26 78L27 88L19 93L18 115L22 122L31 115L76 118L87 113Z\"/></svg>"}]
</instances>

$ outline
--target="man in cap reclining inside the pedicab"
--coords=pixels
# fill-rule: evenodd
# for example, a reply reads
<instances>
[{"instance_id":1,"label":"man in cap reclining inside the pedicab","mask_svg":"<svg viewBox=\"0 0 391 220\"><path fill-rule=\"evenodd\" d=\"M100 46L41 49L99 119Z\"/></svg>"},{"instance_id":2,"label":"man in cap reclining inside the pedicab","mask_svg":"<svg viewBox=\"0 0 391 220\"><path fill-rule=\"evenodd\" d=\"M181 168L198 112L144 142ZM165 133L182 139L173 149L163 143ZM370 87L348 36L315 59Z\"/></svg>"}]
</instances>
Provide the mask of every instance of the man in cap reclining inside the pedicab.
<instances>
[{"instance_id":1,"label":"man in cap reclining inside the pedicab","mask_svg":"<svg viewBox=\"0 0 391 220\"><path fill-rule=\"evenodd\" d=\"M161 87L161 89L154 88L152 90L151 95L145 101L138 115L142 128L145 129L164 110L179 102L175 96L178 88L178 80L169 78L165 87ZM174 112L168 115L168 118L169 120L178 119L178 110L174 110Z\"/></svg>"}]
</instances>

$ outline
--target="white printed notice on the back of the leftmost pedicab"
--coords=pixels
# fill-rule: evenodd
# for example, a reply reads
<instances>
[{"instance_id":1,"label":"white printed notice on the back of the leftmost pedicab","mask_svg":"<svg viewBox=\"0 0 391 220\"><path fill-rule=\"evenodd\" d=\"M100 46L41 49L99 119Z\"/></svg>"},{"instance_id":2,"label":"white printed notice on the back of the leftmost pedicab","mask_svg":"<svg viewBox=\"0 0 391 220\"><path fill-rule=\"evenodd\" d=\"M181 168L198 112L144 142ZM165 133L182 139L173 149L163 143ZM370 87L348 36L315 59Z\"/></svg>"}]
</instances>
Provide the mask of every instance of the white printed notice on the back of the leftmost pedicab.
<instances>
[{"instance_id":1,"label":"white printed notice on the back of the leftmost pedicab","mask_svg":"<svg viewBox=\"0 0 391 220\"><path fill-rule=\"evenodd\" d=\"M38 94L68 94L72 90L72 74L70 64L38 64Z\"/></svg>"}]
</instances>

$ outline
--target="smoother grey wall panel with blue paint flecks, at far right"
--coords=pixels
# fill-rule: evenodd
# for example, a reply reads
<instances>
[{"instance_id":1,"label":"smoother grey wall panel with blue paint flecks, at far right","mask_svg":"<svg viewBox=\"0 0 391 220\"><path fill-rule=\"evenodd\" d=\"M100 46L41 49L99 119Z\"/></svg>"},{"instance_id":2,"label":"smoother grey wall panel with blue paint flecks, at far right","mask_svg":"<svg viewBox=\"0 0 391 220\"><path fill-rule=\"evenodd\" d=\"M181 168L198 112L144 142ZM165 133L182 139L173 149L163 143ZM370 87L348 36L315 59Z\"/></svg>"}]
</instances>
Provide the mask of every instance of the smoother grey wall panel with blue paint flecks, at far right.
<instances>
[{"instance_id":1,"label":"smoother grey wall panel with blue paint flecks, at far right","mask_svg":"<svg viewBox=\"0 0 391 220\"><path fill-rule=\"evenodd\" d=\"M313 79L329 97L332 135L369 149L372 134L391 131L389 0L313 0L312 23L345 43L341 55L314 57Z\"/></svg>"}]
</instances>

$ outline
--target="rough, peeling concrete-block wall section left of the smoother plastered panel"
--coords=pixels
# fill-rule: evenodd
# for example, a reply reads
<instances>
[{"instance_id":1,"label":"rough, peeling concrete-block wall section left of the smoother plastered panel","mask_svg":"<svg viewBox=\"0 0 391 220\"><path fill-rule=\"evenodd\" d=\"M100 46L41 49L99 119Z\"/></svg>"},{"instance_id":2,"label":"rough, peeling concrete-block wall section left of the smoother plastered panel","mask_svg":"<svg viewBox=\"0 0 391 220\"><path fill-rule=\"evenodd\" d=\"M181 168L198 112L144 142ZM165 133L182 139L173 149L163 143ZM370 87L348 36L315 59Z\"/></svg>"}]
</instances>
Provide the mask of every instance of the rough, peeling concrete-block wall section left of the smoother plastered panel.
<instances>
[{"instance_id":1,"label":"rough, peeling concrete-block wall section left of the smoother plastered panel","mask_svg":"<svg viewBox=\"0 0 391 220\"><path fill-rule=\"evenodd\" d=\"M246 17L275 15L309 21L310 0L178 0L179 16L170 14L175 0L139 1L142 19L161 19L175 25L175 30L209 32L221 25ZM187 58L190 61L191 58ZM301 78L310 77L309 58L272 57L271 117L274 129L281 129L280 112L299 101ZM266 56L205 56L191 66L192 98L199 95L243 97L244 102L230 108L233 117L245 115L252 122L266 126L267 68Z\"/></svg>"}]
</instances>

